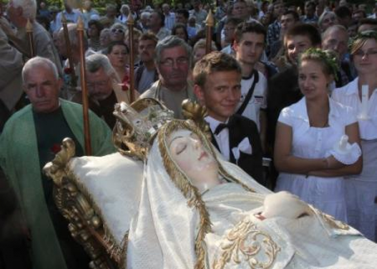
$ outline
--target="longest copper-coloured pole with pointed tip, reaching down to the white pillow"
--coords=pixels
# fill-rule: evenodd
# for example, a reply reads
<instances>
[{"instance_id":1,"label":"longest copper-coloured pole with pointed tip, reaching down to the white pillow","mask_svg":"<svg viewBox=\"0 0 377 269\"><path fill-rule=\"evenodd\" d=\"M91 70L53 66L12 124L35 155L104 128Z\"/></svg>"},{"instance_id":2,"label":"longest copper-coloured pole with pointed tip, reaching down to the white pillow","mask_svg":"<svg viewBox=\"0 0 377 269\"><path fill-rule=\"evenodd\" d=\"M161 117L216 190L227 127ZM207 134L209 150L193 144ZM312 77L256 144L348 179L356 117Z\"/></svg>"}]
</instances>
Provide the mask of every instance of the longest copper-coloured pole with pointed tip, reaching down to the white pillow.
<instances>
[{"instance_id":1,"label":"longest copper-coloured pole with pointed tip, reaching down to the white pillow","mask_svg":"<svg viewBox=\"0 0 377 269\"><path fill-rule=\"evenodd\" d=\"M84 121L85 155L91 155L90 126L89 126L89 102L87 99L86 73L85 73L85 47L84 47L84 22L81 17L77 21L78 43L80 50L80 78L82 94L82 116Z\"/></svg>"}]
</instances>

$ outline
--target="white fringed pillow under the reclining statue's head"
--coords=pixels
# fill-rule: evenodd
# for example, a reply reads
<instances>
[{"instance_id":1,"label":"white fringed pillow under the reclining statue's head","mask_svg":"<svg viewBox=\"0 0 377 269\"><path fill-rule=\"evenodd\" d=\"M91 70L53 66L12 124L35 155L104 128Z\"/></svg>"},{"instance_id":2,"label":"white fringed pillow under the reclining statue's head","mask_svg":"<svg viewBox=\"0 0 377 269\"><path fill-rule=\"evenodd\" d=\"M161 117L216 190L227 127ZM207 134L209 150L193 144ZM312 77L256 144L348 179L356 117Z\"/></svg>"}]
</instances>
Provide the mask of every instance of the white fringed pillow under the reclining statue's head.
<instances>
[{"instance_id":1,"label":"white fringed pillow under the reclining statue's head","mask_svg":"<svg viewBox=\"0 0 377 269\"><path fill-rule=\"evenodd\" d=\"M109 229L118 246L130 228L138 209L143 178L143 162L114 153L102 157L72 158L69 167L100 208L105 229Z\"/></svg>"}]
</instances>

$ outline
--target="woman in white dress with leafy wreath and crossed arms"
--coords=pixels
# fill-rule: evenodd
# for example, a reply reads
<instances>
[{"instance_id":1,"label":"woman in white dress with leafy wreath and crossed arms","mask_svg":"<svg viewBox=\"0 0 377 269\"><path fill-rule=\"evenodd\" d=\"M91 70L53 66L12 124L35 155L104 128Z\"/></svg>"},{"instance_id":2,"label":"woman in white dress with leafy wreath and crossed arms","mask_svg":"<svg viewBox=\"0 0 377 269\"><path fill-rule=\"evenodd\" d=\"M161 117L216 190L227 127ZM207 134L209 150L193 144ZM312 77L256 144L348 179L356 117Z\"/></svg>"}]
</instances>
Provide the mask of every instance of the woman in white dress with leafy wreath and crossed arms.
<instances>
[{"instance_id":1,"label":"woman in white dress with leafy wreath and crossed arms","mask_svg":"<svg viewBox=\"0 0 377 269\"><path fill-rule=\"evenodd\" d=\"M309 49L302 54L299 86L304 97L281 111L276 126L274 164L280 174L275 191L289 191L346 222L344 175L358 174L362 159L354 112L328 96L335 74L329 52ZM347 154L334 149L343 135L352 144Z\"/></svg>"}]
</instances>

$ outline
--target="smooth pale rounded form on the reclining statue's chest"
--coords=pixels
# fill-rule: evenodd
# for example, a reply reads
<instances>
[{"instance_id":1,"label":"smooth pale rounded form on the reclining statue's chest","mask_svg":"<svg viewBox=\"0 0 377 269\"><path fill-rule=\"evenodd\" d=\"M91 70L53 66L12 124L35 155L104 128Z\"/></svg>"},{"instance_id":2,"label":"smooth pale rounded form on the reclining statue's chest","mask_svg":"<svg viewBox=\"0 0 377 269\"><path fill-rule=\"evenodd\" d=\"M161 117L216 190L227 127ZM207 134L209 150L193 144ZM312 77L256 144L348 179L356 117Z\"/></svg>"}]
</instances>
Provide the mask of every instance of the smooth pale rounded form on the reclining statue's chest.
<instances>
[{"instance_id":1,"label":"smooth pale rounded form on the reclining statue's chest","mask_svg":"<svg viewBox=\"0 0 377 269\"><path fill-rule=\"evenodd\" d=\"M265 218L296 219L305 213L310 214L308 204L289 192L269 194L264 198L262 216Z\"/></svg>"}]
</instances>

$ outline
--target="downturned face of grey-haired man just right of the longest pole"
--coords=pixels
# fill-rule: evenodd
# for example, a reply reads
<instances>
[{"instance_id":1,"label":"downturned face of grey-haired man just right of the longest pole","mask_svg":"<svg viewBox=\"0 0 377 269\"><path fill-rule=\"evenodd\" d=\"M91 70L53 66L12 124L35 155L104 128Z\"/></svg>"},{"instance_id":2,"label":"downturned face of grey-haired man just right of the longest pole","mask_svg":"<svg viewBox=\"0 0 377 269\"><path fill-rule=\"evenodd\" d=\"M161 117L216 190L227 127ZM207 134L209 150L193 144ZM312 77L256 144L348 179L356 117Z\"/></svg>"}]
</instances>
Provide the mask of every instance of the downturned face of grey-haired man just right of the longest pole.
<instances>
[{"instance_id":1,"label":"downturned face of grey-haired man just right of the longest pole","mask_svg":"<svg viewBox=\"0 0 377 269\"><path fill-rule=\"evenodd\" d=\"M113 91L111 78L102 67L96 72L86 71L86 83L89 96L96 100L106 99Z\"/></svg>"}]
</instances>

